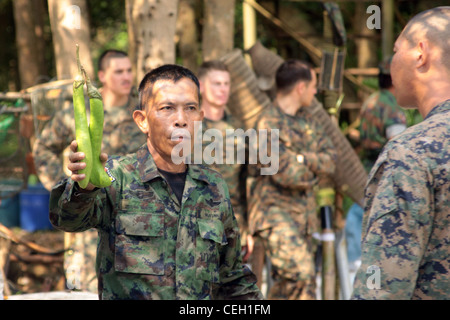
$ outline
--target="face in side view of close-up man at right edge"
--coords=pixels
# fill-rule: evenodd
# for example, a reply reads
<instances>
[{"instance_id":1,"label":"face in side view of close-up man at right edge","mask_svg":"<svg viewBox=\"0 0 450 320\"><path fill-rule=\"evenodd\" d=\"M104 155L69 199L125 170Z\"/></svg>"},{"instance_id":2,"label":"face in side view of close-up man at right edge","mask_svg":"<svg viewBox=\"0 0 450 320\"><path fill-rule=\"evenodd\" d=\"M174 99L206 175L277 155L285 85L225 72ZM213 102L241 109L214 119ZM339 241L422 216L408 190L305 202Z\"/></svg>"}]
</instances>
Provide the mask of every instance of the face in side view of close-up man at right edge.
<instances>
[{"instance_id":1,"label":"face in side view of close-up man at right edge","mask_svg":"<svg viewBox=\"0 0 450 320\"><path fill-rule=\"evenodd\" d=\"M414 88L412 82L414 79L413 66L415 64L408 40L402 35L399 36L394 44L394 56L391 62L392 85L395 88L394 94L397 103L404 107L414 107L412 93Z\"/></svg>"}]
</instances>

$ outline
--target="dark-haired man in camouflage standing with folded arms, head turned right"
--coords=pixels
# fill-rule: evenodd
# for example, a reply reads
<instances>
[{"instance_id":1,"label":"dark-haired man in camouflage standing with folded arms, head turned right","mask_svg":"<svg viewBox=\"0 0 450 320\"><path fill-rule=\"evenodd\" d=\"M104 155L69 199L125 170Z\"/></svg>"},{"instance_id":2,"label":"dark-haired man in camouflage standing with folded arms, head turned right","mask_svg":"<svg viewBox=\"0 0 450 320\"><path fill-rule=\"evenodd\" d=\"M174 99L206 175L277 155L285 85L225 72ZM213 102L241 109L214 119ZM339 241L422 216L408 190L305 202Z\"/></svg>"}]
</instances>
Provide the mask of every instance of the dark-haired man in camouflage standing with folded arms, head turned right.
<instances>
[{"instance_id":1,"label":"dark-haired man in camouflage standing with folded arms, head turned right","mask_svg":"<svg viewBox=\"0 0 450 320\"><path fill-rule=\"evenodd\" d=\"M317 92L311 66L287 60L275 79L274 105L264 109L257 129L269 130L269 137L279 130L279 168L273 175L256 177L250 232L261 237L271 261L274 284L269 298L315 299L315 188L321 178L333 174L336 152L307 109Z\"/></svg>"}]
</instances>

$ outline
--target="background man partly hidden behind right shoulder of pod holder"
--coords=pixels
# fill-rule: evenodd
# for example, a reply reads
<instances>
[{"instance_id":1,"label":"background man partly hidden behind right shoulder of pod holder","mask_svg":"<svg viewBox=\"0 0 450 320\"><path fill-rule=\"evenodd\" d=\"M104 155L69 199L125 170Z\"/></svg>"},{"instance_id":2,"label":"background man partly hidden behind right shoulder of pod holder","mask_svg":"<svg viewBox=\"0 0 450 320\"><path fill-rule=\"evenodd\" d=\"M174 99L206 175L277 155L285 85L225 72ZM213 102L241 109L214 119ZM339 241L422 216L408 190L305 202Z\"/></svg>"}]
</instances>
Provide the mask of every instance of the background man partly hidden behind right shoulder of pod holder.
<instances>
[{"instance_id":1,"label":"background man partly hidden behind right shoulder of pod holder","mask_svg":"<svg viewBox=\"0 0 450 320\"><path fill-rule=\"evenodd\" d=\"M223 154L219 159L222 163L215 161L219 156L215 152L203 152L203 161L206 164L211 164L212 169L220 172L228 185L231 205L238 221L242 245L245 247L248 235L245 194L246 167L245 163L237 161L236 155L246 154L246 144L242 136L237 136L237 139L235 139L234 134L226 135L227 130L235 132L236 129L242 128L242 125L227 110L231 88L230 73L223 62L218 60L206 61L198 70L198 79L202 95L201 109L204 113L202 123L203 150L207 150L205 148L211 144L208 132L216 133L216 131L210 129L219 130L223 139ZM233 163L227 163L226 161L227 155L230 154L234 155Z\"/></svg>"}]
</instances>

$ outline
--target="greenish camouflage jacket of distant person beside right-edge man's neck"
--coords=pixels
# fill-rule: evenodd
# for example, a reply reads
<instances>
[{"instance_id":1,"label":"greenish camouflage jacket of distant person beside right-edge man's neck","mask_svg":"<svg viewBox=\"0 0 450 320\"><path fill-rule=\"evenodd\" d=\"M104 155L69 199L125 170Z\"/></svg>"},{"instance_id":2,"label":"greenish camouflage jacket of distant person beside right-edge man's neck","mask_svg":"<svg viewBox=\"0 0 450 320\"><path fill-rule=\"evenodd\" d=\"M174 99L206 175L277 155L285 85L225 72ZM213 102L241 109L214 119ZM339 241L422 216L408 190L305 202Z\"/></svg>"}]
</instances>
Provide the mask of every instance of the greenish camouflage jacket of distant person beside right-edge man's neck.
<instances>
[{"instance_id":1,"label":"greenish camouflage jacket of distant person beside right-edge man's neck","mask_svg":"<svg viewBox=\"0 0 450 320\"><path fill-rule=\"evenodd\" d=\"M388 141L386 130L396 124L406 127L406 115L389 90L373 93L364 102L359 126L362 160L369 169Z\"/></svg>"}]
</instances>

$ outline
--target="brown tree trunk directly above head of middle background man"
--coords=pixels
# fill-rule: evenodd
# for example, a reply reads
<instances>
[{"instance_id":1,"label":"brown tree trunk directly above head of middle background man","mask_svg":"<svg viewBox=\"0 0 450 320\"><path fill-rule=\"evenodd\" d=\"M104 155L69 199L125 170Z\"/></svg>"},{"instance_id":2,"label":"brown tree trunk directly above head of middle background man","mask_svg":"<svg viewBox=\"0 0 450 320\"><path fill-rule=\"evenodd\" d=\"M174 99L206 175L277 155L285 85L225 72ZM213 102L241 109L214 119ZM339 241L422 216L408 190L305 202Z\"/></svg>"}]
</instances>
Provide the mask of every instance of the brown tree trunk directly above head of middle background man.
<instances>
[{"instance_id":1,"label":"brown tree trunk directly above head of middle background man","mask_svg":"<svg viewBox=\"0 0 450 320\"><path fill-rule=\"evenodd\" d=\"M205 0L203 60L219 59L234 47L235 0Z\"/></svg>"}]
</instances>

